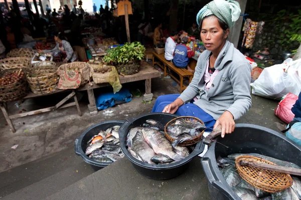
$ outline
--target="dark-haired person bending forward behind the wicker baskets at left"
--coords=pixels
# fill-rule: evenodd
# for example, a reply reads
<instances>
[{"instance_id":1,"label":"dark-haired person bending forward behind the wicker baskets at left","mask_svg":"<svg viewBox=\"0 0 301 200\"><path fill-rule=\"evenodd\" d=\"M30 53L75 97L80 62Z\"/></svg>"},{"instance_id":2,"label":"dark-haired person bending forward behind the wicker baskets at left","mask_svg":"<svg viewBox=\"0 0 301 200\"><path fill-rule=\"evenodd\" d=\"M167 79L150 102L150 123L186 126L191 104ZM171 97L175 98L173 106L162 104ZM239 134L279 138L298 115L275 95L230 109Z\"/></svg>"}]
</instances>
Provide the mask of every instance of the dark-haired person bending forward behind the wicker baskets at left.
<instances>
[{"instance_id":1,"label":"dark-haired person bending forward behind the wicker baskets at left","mask_svg":"<svg viewBox=\"0 0 301 200\"><path fill-rule=\"evenodd\" d=\"M61 51L61 55L65 57L64 62L74 62L77 60L76 55L68 41L65 40L63 33L55 32L54 33L54 40L56 42L56 46L51 50L38 50L39 53L41 52L57 52Z\"/></svg>"}]
</instances>

